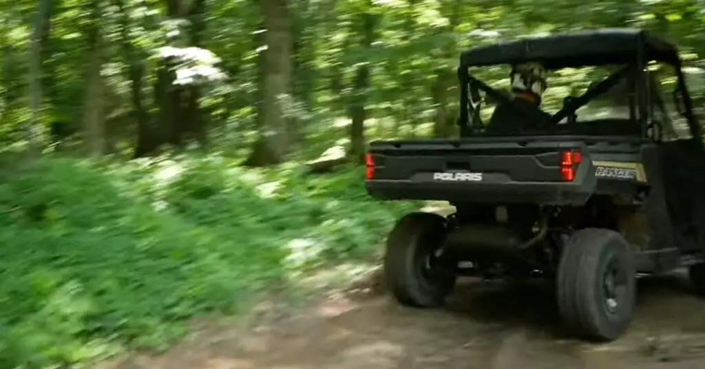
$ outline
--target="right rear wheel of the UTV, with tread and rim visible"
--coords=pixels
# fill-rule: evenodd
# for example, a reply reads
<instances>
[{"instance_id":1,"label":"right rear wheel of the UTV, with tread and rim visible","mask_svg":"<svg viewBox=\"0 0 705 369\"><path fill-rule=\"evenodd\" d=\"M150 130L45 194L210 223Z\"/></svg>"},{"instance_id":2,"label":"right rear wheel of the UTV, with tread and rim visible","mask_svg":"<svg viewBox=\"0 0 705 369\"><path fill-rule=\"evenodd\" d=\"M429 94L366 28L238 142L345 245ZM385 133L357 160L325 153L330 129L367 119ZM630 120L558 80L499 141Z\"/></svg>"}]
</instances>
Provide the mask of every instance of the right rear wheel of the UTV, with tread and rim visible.
<instances>
[{"instance_id":1,"label":"right rear wheel of the UTV, with tread and rim visible","mask_svg":"<svg viewBox=\"0 0 705 369\"><path fill-rule=\"evenodd\" d=\"M563 248L556 289L560 314L575 333L596 341L617 339L636 308L629 244L609 229L576 231Z\"/></svg>"}]
</instances>

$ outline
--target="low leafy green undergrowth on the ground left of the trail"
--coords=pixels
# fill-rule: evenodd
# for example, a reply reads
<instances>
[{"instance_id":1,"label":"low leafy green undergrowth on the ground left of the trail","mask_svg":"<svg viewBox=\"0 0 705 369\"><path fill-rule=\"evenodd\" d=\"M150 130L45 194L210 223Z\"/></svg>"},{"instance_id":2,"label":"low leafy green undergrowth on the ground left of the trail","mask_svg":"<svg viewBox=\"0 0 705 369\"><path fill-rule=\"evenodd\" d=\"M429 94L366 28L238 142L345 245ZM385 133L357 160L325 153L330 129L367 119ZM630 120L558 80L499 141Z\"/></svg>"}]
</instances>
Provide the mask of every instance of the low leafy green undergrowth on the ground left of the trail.
<instances>
[{"instance_id":1,"label":"low leafy green undergrowth on the ground left of the trail","mask_svg":"<svg viewBox=\"0 0 705 369\"><path fill-rule=\"evenodd\" d=\"M298 272L366 258L417 204L363 172L300 176L219 157L45 158L0 183L0 368L80 368L164 349L192 317L233 314Z\"/></svg>"}]
</instances>

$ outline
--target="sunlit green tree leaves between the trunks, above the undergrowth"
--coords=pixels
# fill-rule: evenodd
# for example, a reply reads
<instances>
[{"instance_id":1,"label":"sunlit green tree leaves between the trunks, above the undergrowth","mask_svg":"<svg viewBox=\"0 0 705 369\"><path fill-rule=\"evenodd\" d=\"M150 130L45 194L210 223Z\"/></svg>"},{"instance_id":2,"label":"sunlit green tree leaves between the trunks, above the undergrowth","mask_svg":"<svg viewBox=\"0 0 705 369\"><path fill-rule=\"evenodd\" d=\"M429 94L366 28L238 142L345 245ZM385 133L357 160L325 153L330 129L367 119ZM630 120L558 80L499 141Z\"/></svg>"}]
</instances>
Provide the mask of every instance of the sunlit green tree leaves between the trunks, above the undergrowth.
<instances>
[{"instance_id":1,"label":"sunlit green tree leaves between the trunks, above the undergrowth","mask_svg":"<svg viewBox=\"0 0 705 369\"><path fill-rule=\"evenodd\" d=\"M130 97L129 66L144 68L142 106L158 119L159 99L154 97L159 71L157 56L178 56L177 83L199 84L202 123L214 129L209 135L249 147L256 140L254 109L257 89L257 56L264 49L261 35L261 1L206 1L203 32L198 44L187 40L167 42L168 35L185 37L195 18L170 14L164 1L99 1L99 27L104 35L106 125L114 140L134 147L135 119L125 119L135 109ZM194 1L189 4L195 3ZM90 6L65 0L54 7L50 35L44 45L42 124L61 121L79 131L80 98L85 92L87 45L82 32L91 20ZM121 6L118 6L121 4ZM537 32L560 32L595 27L637 26L654 30L677 42L684 53L703 54L705 30L702 6L687 1L439 1L353 0L290 1L293 18L292 107L290 116L302 121L302 131L329 129L327 119L347 115L346 102L353 95L353 75L361 63L371 66L371 86L364 90L368 117L392 117L393 127L381 135L417 132L434 119L439 104L430 91L441 83L455 85L453 69L460 49ZM27 49L36 1L0 1L0 140L16 140L18 126L29 116L25 96ZM377 17L374 42L362 47L360 17ZM178 26L177 26L178 25ZM188 44L188 45L187 45ZM125 46L134 48L130 55ZM149 56L153 56L150 58ZM445 73L441 73L445 72ZM486 80L506 78L505 71L490 71ZM224 83L210 83L212 80ZM556 85L553 83L552 85ZM362 93L357 91L355 93ZM456 99L448 94L449 108ZM551 99L551 97L548 97ZM444 100L445 101L445 100ZM199 123L200 124L200 123ZM377 135L377 132L375 132ZM233 147L233 145L230 145Z\"/></svg>"}]
</instances>

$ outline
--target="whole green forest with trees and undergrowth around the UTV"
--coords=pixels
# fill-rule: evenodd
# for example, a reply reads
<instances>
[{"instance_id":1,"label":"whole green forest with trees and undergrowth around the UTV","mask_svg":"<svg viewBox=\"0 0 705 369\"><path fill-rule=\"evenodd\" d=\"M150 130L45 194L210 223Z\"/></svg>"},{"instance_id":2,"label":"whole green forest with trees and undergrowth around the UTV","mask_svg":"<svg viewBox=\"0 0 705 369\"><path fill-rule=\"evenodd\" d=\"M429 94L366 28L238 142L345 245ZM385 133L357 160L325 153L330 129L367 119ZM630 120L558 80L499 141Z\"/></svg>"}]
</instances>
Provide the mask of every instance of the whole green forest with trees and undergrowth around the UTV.
<instances>
[{"instance_id":1,"label":"whole green forest with trees and undergrowth around the UTV","mask_svg":"<svg viewBox=\"0 0 705 369\"><path fill-rule=\"evenodd\" d=\"M376 138L456 135L462 49L646 28L700 67L689 0L0 0L0 368L165 349L298 277L374 263L418 202ZM501 85L508 75L488 68ZM580 73L553 78L582 88ZM694 84L696 99L701 97ZM546 104L559 92L547 92Z\"/></svg>"}]
</instances>

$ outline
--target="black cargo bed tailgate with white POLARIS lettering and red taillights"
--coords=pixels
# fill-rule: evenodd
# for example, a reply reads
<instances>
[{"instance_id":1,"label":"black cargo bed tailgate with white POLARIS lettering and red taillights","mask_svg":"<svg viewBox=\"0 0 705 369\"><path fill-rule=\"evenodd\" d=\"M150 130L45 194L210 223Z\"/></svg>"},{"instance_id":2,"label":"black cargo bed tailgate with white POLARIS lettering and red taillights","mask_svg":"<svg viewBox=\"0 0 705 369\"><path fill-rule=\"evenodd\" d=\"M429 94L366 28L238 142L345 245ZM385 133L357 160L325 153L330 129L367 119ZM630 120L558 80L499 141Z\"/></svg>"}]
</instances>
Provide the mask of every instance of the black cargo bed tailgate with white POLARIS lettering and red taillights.
<instances>
[{"instance_id":1,"label":"black cargo bed tailgate with white POLARIS lettering and red taillights","mask_svg":"<svg viewBox=\"0 0 705 369\"><path fill-rule=\"evenodd\" d=\"M581 204L596 184L580 140L559 138L378 141L367 164L367 191L385 200Z\"/></svg>"}]
</instances>

